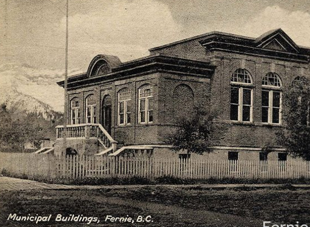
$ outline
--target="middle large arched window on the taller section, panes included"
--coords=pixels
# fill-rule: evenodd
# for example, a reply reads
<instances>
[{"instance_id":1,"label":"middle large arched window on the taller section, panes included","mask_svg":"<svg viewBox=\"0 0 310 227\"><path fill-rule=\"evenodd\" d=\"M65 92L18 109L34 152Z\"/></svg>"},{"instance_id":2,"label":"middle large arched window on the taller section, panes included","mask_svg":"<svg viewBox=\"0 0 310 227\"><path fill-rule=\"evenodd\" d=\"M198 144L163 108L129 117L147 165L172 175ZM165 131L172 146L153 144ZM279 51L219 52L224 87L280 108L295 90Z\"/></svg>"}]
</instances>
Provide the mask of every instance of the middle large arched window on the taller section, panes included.
<instances>
[{"instance_id":1,"label":"middle large arched window on the taller section, panes included","mask_svg":"<svg viewBox=\"0 0 310 227\"><path fill-rule=\"evenodd\" d=\"M262 122L281 123L281 80L277 73L269 72L262 79Z\"/></svg>"}]
</instances>

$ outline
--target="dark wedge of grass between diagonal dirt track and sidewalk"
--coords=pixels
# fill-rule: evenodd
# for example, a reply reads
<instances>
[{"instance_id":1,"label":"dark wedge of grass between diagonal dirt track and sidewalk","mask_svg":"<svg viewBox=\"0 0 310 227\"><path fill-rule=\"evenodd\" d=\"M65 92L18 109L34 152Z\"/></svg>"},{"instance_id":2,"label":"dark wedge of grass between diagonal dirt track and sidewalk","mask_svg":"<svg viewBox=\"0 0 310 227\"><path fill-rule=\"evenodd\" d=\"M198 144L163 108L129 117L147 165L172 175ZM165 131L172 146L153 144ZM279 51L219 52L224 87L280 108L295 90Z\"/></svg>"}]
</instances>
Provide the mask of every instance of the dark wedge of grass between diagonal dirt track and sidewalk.
<instances>
[{"instance_id":1,"label":"dark wedge of grass between diagonal dirt track and sidewalk","mask_svg":"<svg viewBox=\"0 0 310 227\"><path fill-rule=\"evenodd\" d=\"M131 198L184 208L214 211L224 214L271 220L277 223L300 223L309 221L310 190L292 190L291 185L279 188L255 189L237 188L213 190L191 187L140 187L113 190L107 195Z\"/></svg>"}]
</instances>

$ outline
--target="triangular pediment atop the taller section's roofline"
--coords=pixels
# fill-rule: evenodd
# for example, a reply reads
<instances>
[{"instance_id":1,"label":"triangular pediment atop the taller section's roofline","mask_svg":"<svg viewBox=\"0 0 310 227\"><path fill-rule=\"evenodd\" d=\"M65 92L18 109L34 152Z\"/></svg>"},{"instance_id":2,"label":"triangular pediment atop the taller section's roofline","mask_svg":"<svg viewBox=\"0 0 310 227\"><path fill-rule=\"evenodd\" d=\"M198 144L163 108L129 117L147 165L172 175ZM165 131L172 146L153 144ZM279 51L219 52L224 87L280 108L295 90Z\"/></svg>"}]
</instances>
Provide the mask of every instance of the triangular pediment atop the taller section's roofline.
<instances>
[{"instance_id":1,"label":"triangular pediment atop the taller section's roofline","mask_svg":"<svg viewBox=\"0 0 310 227\"><path fill-rule=\"evenodd\" d=\"M255 40L257 47L268 50L284 51L298 53L299 47L294 41L282 30L276 29L264 33Z\"/></svg>"}]
</instances>

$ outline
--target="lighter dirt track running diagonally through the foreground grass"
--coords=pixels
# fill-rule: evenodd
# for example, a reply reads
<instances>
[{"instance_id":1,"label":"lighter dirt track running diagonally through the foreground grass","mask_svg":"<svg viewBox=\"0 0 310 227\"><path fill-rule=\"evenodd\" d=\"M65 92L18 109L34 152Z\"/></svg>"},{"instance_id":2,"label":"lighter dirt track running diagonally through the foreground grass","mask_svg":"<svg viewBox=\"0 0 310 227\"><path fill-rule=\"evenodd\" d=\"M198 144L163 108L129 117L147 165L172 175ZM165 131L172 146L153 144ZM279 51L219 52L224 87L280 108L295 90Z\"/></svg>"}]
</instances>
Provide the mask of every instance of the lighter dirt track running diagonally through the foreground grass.
<instances>
[{"instance_id":1,"label":"lighter dirt track running diagonally through the foreground grass","mask_svg":"<svg viewBox=\"0 0 310 227\"><path fill-rule=\"evenodd\" d=\"M86 199L86 197L85 197ZM100 203L109 203L119 207L130 206L137 207L143 210L143 214L148 215L148 212L155 213L158 216L153 216L153 223L150 227L155 226L199 226L199 227L260 227L263 224L262 220L252 218L244 218L240 216L216 213L204 210L194 210L174 205L163 205L158 203L143 202L132 199L121 199L115 197L92 196L87 197L87 200L93 200Z\"/></svg>"}]
</instances>

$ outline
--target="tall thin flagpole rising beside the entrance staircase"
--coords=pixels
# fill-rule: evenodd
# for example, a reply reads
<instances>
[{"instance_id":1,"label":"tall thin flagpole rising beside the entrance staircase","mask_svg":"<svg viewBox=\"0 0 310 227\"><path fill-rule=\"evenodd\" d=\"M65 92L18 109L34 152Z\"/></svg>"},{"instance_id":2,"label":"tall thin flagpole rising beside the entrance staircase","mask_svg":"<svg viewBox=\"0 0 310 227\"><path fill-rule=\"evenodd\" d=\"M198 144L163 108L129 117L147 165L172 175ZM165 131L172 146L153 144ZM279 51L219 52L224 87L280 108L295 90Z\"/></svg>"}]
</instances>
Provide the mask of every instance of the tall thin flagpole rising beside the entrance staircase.
<instances>
[{"instance_id":1,"label":"tall thin flagpole rising beside the entrance staircase","mask_svg":"<svg viewBox=\"0 0 310 227\"><path fill-rule=\"evenodd\" d=\"M64 152L66 147L66 139L67 139L67 123L68 123L68 0L66 1L66 43L65 43L65 64L64 64Z\"/></svg>"}]
</instances>

